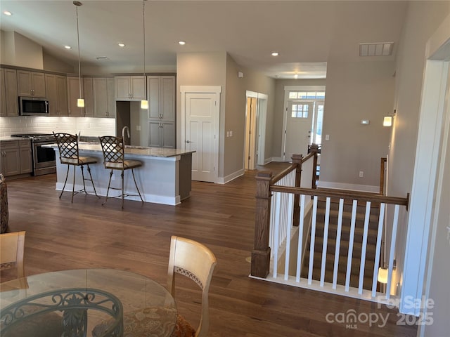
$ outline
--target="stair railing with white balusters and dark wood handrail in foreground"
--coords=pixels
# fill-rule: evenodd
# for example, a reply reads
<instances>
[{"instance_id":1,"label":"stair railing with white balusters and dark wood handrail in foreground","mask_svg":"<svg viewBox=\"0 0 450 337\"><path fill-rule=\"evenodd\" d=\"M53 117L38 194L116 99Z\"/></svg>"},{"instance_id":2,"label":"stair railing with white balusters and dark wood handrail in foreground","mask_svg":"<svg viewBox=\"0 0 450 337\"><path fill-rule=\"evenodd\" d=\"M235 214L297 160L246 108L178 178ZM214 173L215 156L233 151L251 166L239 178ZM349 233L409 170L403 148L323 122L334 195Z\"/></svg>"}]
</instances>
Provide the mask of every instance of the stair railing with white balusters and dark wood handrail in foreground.
<instances>
[{"instance_id":1,"label":"stair railing with white balusters and dark wood handrail in foreground","mask_svg":"<svg viewBox=\"0 0 450 337\"><path fill-rule=\"evenodd\" d=\"M316 154L315 154L316 155ZM383 239L383 223L385 221L385 209L387 205L392 205L394 208L394 218L392 220L392 236L390 237L390 252L387 256L387 284L386 289L390 289L392 270L394 269L394 254L395 241L397 235L399 208L400 206L408 207L409 194L405 198L401 197L386 197L380 194L356 192L348 190L317 190L315 186L315 172L314 182L311 181L310 187L301 186L301 173L304 163L314 157L303 158L301 155L293 156L293 164L273 177L271 172L259 172L257 174L257 209L255 219L255 249L252 251L252 267L251 275L254 277L266 278L270 270L272 276L270 277L275 282L281 282L281 279L287 284L296 286L305 286L318 290L334 291L336 293L347 294L348 296L361 296L363 294L364 272L366 263L366 249L368 239L368 223L371 217L371 205L379 204L378 226L376 228L376 246L375 258L373 260L373 274L371 274L371 291L366 298L375 298L378 294L378 267L380 267L380 253ZM314 166L315 167L315 166ZM311 171L314 171L311 170ZM308 173L305 173L309 176ZM312 175L313 173L311 173ZM295 175L295 178L293 176ZM311 176L310 176L311 177ZM311 203L311 230L309 231L307 223L305 222L305 214L308 209L308 203ZM317 204L319 198L326 200L325 223L323 228L323 242L322 242L322 256L320 267L320 278L315 281L312 277L314 265L314 239L316 234L316 218L317 218ZM339 211L336 233L336 244L333 261L333 279L331 282L326 282L326 263L327 263L327 242L330 227L330 201L339 200ZM349 229L349 246L347 252L347 265L345 266L345 284L338 284L338 270L340 258L340 244L342 234L342 214L344 201L351 201L352 204L352 218ZM295 206L298 205L298 206ZM365 205L364 226L361 228L362 242L361 242L361 258L359 260L359 281L358 286L351 287L350 279L352 267L354 267L354 237L356 224L356 209L358 206ZM334 225L334 224L333 224ZM293 229L298 226L298 242L297 242L297 256L295 275L290 275L290 238ZM359 229L359 230L361 230ZM310 235L309 243L309 261L308 262L308 276L301 277L302 259L304 257L304 230L307 231L307 236ZM310 232L310 233L309 233ZM333 233L334 234L334 233ZM288 239L289 238L289 239ZM285 251L285 267L284 273L278 275L278 256L279 249L283 248ZM333 252L330 252L333 253ZM329 254L328 254L329 256ZM272 265L271 265L272 262ZM328 261L330 263L330 261ZM342 264L342 262L341 262ZM384 267L384 266L383 266ZM342 270L342 266L341 266ZM342 273L342 272L341 272ZM328 275L329 278L329 275ZM338 289L338 291L336 291ZM365 287L366 289L366 287ZM390 298L390 291L387 291L385 298Z\"/></svg>"}]
</instances>

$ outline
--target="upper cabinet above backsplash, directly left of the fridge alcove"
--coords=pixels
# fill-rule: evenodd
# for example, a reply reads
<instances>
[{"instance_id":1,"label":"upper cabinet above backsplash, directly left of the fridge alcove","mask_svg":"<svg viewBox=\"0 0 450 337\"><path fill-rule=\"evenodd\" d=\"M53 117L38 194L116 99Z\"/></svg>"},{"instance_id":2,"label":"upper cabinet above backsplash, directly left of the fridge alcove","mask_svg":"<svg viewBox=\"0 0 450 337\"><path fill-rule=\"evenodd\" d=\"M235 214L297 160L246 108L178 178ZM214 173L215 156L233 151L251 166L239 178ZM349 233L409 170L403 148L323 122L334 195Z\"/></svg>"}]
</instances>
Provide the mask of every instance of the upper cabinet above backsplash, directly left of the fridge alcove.
<instances>
[{"instance_id":1,"label":"upper cabinet above backsplash, directly left of the fridge alcove","mask_svg":"<svg viewBox=\"0 0 450 337\"><path fill-rule=\"evenodd\" d=\"M94 117L115 118L115 86L113 77L94 77Z\"/></svg>"}]
</instances>

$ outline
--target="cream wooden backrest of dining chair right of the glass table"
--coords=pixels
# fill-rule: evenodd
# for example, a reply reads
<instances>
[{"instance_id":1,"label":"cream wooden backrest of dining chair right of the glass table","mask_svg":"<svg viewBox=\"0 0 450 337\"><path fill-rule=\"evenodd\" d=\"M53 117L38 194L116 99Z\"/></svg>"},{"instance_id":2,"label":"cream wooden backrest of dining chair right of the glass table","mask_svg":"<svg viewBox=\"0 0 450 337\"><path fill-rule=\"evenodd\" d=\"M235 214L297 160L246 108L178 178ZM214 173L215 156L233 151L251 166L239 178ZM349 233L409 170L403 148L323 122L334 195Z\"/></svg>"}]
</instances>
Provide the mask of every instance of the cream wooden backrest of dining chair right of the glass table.
<instances>
[{"instance_id":1,"label":"cream wooden backrest of dining chair right of the glass table","mask_svg":"<svg viewBox=\"0 0 450 337\"><path fill-rule=\"evenodd\" d=\"M192 279L202 289L202 308L200 324L195 330L195 337L207 336L210 319L208 315L208 292L212 272L217 260L212 251L203 244L191 239L172 236L170 242L169 270L167 287L175 297L174 273L179 273Z\"/></svg>"}]
</instances>

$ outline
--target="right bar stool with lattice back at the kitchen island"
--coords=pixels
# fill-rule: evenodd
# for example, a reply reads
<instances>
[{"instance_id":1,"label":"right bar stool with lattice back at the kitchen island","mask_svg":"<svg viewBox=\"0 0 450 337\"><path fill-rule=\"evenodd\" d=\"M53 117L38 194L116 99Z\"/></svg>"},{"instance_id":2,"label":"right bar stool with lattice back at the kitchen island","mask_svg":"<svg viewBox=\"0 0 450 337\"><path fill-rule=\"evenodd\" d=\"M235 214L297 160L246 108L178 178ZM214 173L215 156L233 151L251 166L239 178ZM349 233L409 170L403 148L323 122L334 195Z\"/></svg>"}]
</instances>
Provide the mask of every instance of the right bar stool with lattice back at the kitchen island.
<instances>
[{"instance_id":1,"label":"right bar stool with lattice back at the kitchen island","mask_svg":"<svg viewBox=\"0 0 450 337\"><path fill-rule=\"evenodd\" d=\"M108 183L108 190L106 190L106 199L103 203L106 204L108 201L108 194L111 190L120 190L117 187L110 187L111 178L113 177L113 170L122 171L120 173L120 177L122 178L122 194L117 195L112 198L122 198L122 209L124 209L124 197L137 197L141 198L143 203L143 199L141 197L141 192L139 192L138 184L136 183L136 178L134 178L133 169L139 166L142 166L141 161L138 160L126 160L124 157L124 143L122 137L115 136L103 136L98 137L101 143L101 150L103 151L103 165L105 169L110 169L110 180ZM131 169L131 174L133 175L134 185L136 186L136 190L138 194L124 194L124 171Z\"/></svg>"}]
</instances>

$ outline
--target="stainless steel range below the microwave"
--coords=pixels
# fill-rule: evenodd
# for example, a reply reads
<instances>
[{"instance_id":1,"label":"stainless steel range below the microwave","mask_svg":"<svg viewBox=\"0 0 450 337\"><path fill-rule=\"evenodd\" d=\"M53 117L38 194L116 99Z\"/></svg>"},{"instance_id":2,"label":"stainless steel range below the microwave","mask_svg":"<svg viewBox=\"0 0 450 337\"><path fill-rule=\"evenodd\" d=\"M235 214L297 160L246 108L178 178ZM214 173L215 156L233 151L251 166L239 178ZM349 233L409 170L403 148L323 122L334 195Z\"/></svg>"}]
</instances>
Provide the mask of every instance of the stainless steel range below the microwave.
<instances>
[{"instance_id":1,"label":"stainless steel range below the microwave","mask_svg":"<svg viewBox=\"0 0 450 337\"><path fill-rule=\"evenodd\" d=\"M45 144L56 143L51 133L22 133L11 137L30 138L33 156L33 175L56 173L56 155L53 149L42 147Z\"/></svg>"}]
</instances>

